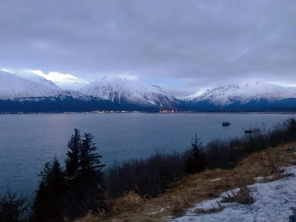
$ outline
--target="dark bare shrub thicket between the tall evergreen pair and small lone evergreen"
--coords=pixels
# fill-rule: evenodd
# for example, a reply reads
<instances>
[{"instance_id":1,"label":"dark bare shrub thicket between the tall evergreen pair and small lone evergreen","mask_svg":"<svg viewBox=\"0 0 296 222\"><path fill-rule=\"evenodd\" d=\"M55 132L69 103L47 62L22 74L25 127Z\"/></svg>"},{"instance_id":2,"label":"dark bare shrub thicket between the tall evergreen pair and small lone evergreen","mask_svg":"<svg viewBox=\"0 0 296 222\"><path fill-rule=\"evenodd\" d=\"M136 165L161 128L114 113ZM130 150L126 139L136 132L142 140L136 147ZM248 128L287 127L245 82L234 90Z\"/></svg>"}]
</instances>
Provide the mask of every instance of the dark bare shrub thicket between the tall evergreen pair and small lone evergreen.
<instances>
[{"instance_id":1,"label":"dark bare shrub thicket between the tall evergreen pair and small lone evergreen","mask_svg":"<svg viewBox=\"0 0 296 222\"><path fill-rule=\"evenodd\" d=\"M184 155L156 152L147 159L114 164L106 172L106 187L112 198L135 191L140 196L157 197L185 174Z\"/></svg>"}]
</instances>

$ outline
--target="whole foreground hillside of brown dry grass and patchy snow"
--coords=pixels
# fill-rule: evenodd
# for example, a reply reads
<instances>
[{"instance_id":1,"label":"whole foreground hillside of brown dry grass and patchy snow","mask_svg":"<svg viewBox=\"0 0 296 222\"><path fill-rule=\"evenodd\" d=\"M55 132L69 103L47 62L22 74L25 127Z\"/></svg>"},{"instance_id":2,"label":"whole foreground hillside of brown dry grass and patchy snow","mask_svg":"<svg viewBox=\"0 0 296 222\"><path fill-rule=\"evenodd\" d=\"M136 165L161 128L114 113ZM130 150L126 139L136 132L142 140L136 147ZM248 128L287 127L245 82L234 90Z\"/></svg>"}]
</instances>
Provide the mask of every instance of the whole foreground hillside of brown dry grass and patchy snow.
<instances>
[{"instance_id":1,"label":"whole foreground hillside of brown dry grass and patchy snow","mask_svg":"<svg viewBox=\"0 0 296 222\"><path fill-rule=\"evenodd\" d=\"M187 176L155 199L130 192L113 201L110 213L90 213L78 221L246 222L253 218L287 222L292 215L290 208L296 207L295 161L295 142L269 148L249 155L232 170L206 170ZM239 189L245 193L236 195ZM229 201L229 196L235 198Z\"/></svg>"}]
</instances>

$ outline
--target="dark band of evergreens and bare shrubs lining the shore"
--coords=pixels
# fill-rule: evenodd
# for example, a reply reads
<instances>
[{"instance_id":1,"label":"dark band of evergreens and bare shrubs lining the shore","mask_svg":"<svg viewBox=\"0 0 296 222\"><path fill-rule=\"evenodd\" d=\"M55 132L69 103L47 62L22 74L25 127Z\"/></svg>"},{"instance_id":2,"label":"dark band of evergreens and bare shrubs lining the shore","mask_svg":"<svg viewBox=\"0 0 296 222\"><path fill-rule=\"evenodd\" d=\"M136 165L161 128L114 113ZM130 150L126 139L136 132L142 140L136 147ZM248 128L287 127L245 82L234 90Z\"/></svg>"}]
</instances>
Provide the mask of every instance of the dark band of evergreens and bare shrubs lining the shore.
<instances>
[{"instance_id":1,"label":"dark band of evergreens and bare shrubs lining the shore","mask_svg":"<svg viewBox=\"0 0 296 222\"><path fill-rule=\"evenodd\" d=\"M31 211L26 197L9 191L0 195L0 222L74 221L90 210L110 210L112 199L130 191L143 198L154 198L187 174L231 169L250 153L294 140L296 119L290 118L270 130L216 139L205 145L195 135L184 153L157 151L146 159L114 163L103 173L105 165L101 164L102 156L97 153L93 136L81 136L75 129L68 143L65 168L55 156L40 172Z\"/></svg>"}]
</instances>

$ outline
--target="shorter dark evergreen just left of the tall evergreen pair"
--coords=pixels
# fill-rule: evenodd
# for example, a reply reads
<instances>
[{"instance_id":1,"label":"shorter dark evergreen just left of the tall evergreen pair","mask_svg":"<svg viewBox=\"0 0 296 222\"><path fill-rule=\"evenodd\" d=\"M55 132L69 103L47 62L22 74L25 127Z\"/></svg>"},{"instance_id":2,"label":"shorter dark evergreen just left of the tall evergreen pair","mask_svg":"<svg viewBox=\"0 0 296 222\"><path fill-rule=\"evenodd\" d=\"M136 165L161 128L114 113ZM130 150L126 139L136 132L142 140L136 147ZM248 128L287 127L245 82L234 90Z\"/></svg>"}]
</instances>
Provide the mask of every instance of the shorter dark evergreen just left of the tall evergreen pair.
<instances>
[{"instance_id":1,"label":"shorter dark evergreen just left of the tall evergreen pair","mask_svg":"<svg viewBox=\"0 0 296 222\"><path fill-rule=\"evenodd\" d=\"M65 177L60 161L55 156L44 165L38 175L41 180L32 208L32 222L58 221L61 219L60 198L66 190Z\"/></svg>"}]
</instances>

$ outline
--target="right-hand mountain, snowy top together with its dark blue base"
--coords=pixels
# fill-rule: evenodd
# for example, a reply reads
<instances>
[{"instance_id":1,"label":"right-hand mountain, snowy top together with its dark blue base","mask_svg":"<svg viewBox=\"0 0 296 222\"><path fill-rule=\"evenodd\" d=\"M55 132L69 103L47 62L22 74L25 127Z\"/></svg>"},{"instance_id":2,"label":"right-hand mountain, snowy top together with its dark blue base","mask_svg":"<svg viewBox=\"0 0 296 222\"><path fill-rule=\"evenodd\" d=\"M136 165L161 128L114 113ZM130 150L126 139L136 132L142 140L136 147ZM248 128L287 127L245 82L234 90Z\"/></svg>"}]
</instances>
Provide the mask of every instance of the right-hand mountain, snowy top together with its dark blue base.
<instances>
[{"instance_id":1,"label":"right-hand mountain, snowy top together with its dark blue base","mask_svg":"<svg viewBox=\"0 0 296 222\"><path fill-rule=\"evenodd\" d=\"M184 101L195 109L268 110L296 107L295 98L296 87L254 81L215 87L199 96L188 96Z\"/></svg>"}]
</instances>

